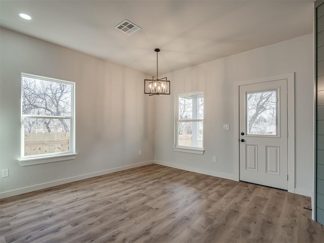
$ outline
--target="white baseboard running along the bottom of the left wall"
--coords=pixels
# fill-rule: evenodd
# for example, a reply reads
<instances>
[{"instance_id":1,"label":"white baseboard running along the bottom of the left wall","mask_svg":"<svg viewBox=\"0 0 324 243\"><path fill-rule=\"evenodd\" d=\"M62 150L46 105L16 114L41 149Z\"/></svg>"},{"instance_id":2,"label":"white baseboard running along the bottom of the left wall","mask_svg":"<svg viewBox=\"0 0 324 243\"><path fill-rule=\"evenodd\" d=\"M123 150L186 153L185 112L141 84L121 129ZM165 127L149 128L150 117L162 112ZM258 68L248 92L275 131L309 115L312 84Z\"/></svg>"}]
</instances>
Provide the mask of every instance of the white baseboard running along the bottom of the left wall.
<instances>
[{"instance_id":1,"label":"white baseboard running along the bottom of the left wall","mask_svg":"<svg viewBox=\"0 0 324 243\"><path fill-rule=\"evenodd\" d=\"M84 179L88 179L88 178L92 178L92 177L96 177L96 176L102 176L102 175L106 175L106 174L110 174L110 173L114 173L114 172L118 172L118 171L124 171L124 170L132 169L132 168L136 168L136 167L140 167L140 166L146 166L146 165L150 165L150 164L153 164L153 160L145 161L145 162L141 162L141 163L137 163L137 164L132 164L132 165L128 165L128 166L121 166L121 167L117 167L117 168L113 168L113 169L109 169L109 170L93 172L93 173L89 173L89 174L85 174L85 175L74 176L74 177L70 177L70 178L66 178L66 179L62 179L62 180L46 182L43 184L27 186L27 187L23 187L23 188L11 190L11 191L0 192L0 199L10 197L10 196L20 195L20 194L23 194L26 192L41 190L41 189L49 188L52 186L58 186L58 185L62 185L62 184L66 184L66 183L70 183L70 182L74 182L74 181L84 180Z\"/></svg>"}]
</instances>

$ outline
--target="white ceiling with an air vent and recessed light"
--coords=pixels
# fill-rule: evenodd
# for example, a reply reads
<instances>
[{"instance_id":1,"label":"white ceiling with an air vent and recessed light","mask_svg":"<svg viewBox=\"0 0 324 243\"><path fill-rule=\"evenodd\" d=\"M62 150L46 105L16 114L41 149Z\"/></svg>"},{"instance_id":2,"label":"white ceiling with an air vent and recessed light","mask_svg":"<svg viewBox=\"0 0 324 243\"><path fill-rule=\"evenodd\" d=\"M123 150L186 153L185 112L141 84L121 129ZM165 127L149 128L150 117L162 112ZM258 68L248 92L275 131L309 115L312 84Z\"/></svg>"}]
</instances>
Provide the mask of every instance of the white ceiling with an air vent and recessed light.
<instances>
[{"instance_id":1,"label":"white ceiling with an air vent and recessed light","mask_svg":"<svg viewBox=\"0 0 324 243\"><path fill-rule=\"evenodd\" d=\"M313 1L0 1L3 27L156 74L311 33ZM19 13L32 20L24 20ZM114 28L128 19L141 27Z\"/></svg>"}]
</instances>

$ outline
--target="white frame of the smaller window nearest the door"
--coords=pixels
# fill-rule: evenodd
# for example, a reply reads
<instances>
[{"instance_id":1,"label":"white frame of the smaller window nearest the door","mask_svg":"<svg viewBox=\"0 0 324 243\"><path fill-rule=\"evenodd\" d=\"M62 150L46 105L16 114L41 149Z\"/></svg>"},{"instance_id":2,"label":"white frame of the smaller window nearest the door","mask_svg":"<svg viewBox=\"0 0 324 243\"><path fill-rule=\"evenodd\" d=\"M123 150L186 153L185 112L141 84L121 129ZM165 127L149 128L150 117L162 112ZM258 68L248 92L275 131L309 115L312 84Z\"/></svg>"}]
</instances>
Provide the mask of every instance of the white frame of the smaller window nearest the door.
<instances>
[{"instance_id":1,"label":"white frame of the smaller window nearest the door","mask_svg":"<svg viewBox=\"0 0 324 243\"><path fill-rule=\"evenodd\" d=\"M204 97L204 117L203 119L179 119L179 97L184 96L193 96L193 95L203 95ZM195 91L195 92L189 92L189 93L183 93L183 94L177 94L175 95L175 137L174 137L174 147L173 150L177 152L186 152L186 153L195 153L195 154L204 154L204 118L205 118L205 95L204 91ZM189 147L189 146L180 146L179 145L179 122L201 122L203 123L203 146L200 147Z\"/></svg>"}]
</instances>

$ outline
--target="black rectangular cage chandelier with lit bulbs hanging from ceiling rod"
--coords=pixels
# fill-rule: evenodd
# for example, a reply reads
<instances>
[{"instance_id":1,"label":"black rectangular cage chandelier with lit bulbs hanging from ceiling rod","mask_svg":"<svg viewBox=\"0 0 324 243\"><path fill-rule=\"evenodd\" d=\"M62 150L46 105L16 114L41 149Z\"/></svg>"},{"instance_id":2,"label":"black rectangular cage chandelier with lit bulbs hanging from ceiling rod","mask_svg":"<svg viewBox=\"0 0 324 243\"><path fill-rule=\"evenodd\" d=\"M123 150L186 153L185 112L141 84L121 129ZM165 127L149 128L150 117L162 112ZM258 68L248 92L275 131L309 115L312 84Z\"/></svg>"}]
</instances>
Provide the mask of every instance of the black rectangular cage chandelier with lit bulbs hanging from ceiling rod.
<instances>
[{"instance_id":1,"label":"black rectangular cage chandelier with lit bulbs hanging from ceiling rod","mask_svg":"<svg viewBox=\"0 0 324 243\"><path fill-rule=\"evenodd\" d=\"M154 49L156 52L156 78L152 76L152 79L144 79L144 94L152 95L170 95L170 80L167 77L158 78L158 65L157 65L157 53L160 49Z\"/></svg>"}]
</instances>

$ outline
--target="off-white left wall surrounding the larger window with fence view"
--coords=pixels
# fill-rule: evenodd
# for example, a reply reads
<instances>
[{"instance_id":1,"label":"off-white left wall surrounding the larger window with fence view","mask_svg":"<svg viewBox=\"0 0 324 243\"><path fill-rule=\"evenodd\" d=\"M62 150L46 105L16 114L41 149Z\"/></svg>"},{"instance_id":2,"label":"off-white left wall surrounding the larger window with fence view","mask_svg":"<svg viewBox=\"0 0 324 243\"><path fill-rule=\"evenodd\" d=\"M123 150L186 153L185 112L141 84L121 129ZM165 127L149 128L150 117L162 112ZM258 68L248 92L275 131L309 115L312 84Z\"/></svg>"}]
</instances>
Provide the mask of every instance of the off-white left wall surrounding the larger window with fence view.
<instances>
[{"instance_id":1,"label":"off-white left wall surrounding the larger window with fence view","mask_svg":"<svg viewBox=\"0 0 324 243\"><path fill-rule=\"evenodd\" d=\"M143 94L145 74L0 31L0 169L9 169L0 178L0 197L152 162L154 104ZM21 72L76 83L76 159L19 165Z\"/></svg>"}]
</instances>

